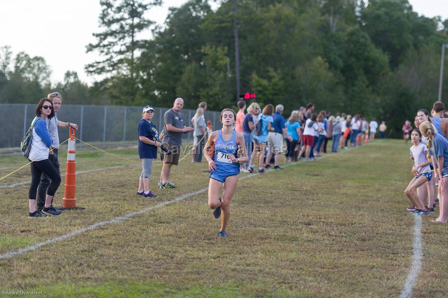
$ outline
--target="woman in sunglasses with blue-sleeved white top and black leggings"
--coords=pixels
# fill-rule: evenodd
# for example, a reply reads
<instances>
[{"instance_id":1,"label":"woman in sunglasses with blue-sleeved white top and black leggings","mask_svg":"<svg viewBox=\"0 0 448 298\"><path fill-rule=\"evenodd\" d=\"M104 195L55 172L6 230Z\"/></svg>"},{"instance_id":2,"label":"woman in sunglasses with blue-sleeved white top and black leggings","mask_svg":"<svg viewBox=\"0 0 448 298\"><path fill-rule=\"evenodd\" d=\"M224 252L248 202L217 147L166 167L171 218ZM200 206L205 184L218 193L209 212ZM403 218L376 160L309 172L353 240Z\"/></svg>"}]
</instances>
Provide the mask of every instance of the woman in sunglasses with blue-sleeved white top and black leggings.
<instances>
[{"instance_id":1,"label":"woman in sunglasses with blue-sleeved white top and black leggings","mask_svg":"<svg viewBox=\"0 0 448 298\"><path fill-rule=\"evenodd\" d=\"M48 132L45 119L51 119L54 116L53 106L50 99L43 98L39 101L35 111L36 117L33 122L33 130L31 137L31 148L28 160L31 161L31 185L28 192L30 205L30 214L28 217L44 217L47 215L57 216L61 212L56 210L52 205L53 196L60 185L60 175L52 162L48 159L48 151L53 140ZM36 211L36 195L42 173L46 174L50 179L50 185L47 189L45 205L42 213Z\"/></svg>"}]
</instances>

